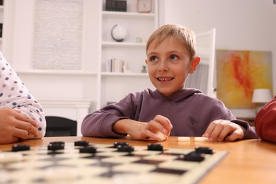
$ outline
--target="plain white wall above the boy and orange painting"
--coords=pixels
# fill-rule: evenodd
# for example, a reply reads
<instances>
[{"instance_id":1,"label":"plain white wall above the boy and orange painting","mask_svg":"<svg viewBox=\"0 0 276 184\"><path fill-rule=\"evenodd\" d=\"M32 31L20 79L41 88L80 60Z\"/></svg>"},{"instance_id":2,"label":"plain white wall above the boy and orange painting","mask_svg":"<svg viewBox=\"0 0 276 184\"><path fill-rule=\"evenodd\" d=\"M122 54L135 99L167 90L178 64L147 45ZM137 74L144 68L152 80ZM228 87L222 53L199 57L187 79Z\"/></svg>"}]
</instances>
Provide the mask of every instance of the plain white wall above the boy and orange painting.
<instances>
[{"instance_id":1,"label":"plain white wall above the boy and orange painting","mask_svg":"<svg viewBox=\"0 0 276 184\"><path fill-rule=\"evenodd\" d=\"M195 33L216 28L216 49L271 51L276 95L276 4L272 0L161 0L160 6L161 24L179 23Z\"/></svg>"}]
</instances>

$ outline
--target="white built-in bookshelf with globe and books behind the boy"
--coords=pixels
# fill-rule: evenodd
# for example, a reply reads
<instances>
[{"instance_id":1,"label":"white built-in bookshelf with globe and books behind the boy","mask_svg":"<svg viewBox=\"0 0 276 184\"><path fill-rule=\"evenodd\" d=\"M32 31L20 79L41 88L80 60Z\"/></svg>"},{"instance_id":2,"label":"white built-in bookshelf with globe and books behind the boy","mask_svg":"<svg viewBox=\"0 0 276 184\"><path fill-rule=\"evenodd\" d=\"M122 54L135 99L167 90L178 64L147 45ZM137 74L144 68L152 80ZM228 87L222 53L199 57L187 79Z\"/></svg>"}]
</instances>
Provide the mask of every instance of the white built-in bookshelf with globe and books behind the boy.
<instances>
[{"instance_id":1,"label":"white built-in bookshelf with globe and books behind the boy","mask_svg":"<svg viewBox=\"0 0 276 184\"><path fill-rule=\"evenodd\" d=\"M127 12L105 11L103 0L97 108L117 102L128 93L154 88L148 74L142 73L142 65L145 65L146 59L146 40L159 27L158 1L152 2L151 12L137 13L137 0L127 0ZM127 37L123 42L116 42L111 37L111 29L116 24L127 29ZM137 42L137 38L142 42ZM107 61L112 58L124 60L128 72L107 72Z\"/></svg>"}]
</instances>

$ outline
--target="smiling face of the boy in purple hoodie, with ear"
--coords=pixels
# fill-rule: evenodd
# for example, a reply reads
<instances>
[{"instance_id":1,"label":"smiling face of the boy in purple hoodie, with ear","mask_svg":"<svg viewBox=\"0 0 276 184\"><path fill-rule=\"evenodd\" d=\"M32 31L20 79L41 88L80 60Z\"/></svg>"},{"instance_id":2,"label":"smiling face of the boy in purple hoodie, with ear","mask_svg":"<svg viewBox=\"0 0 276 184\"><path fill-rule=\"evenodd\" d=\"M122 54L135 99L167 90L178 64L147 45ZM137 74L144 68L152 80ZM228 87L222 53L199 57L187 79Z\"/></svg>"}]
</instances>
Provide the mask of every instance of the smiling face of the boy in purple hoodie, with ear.
<instances>
[{"instance_id":1,"label":"smiling face of the boy in purple hoodie, with ear","mask_svg":"<svg viewBox=\"0 0 276 184\"><path fill-rule=\"evenodd\" d=\"M146 57L149 79L164 96L184 88L188 74L192 74L200 62L200 57L190 61L188 50L173 38L166 38L157 46L155 40L151 42Z\"/></svg>"}]
</instances>

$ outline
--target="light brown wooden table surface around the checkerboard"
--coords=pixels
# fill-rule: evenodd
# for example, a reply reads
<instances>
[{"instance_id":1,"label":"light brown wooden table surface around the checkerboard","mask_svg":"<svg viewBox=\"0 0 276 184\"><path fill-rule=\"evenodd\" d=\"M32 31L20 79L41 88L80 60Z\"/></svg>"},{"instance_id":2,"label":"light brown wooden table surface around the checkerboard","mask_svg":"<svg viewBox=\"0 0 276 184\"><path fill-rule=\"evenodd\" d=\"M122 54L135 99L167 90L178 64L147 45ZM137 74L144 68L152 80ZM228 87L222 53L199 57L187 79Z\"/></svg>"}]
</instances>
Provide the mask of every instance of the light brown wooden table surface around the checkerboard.
<instances>
[{"instance_id":1,"label":"light brown wooden table surface around the checkerboard","mask_svg":"<svg viewBox=\"0 0 276 184\"><path fill-rule=\"evenodd\" d=\"M154 141L126 139L103 139L95 137L45 137L26 140L18 144L30 146L47 145L53 141L74 142L87 140L95 144L129 142L132 146L147 146ZM160 143L160 142L159 142ZM194 149L195 146L211 146L214 150L229 151L229 154L215 166L200 183L276 183L276 144L258 139L238 142L178 142L177 137L169 137L161 142L165 148ZM0 150L10 150L12 144L0 145Z\"/></svg>"}]
</instances>

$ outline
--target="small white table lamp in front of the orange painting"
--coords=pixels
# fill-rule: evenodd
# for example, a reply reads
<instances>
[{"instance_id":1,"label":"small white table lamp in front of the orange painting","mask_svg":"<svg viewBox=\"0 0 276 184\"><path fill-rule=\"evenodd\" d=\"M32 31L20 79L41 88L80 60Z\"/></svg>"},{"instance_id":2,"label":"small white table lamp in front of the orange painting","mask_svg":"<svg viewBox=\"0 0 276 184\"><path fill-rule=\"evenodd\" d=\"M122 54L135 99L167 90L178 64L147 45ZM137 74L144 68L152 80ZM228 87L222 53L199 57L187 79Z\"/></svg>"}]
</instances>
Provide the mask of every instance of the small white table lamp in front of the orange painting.
<instances>
[{"instance_id":1,"label":"small white table lamp in front of the orange painting","mask_svg":"<svg viewBox=\"0 0 276 184\"><path fill-rule=\"evenodd\" d=\"M272 99L272 94L268 88L256 88L253 90L252 102L256 103L256 113L259 112L265 103Z\"/></svg>"}]
</instances>

